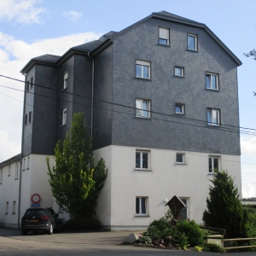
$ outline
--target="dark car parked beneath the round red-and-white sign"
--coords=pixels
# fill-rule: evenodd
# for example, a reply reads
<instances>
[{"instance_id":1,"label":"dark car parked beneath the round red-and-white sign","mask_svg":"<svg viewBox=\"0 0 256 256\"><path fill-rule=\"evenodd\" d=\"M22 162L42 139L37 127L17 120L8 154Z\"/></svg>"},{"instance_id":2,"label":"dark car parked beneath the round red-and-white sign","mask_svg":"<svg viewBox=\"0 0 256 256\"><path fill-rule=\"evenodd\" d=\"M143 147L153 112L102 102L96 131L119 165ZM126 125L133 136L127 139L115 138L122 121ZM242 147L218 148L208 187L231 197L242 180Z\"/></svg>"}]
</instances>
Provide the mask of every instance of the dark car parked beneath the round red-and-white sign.
<instances>
[{"instance_id":1,"label":"dark car parked beneath the round red-and-white sign","mask_svg":"<svg viewBox=\"0 0 256 256\"><path fill-rule=\"evenodd\" d=\"M61 219L59 214L51 208L29 208L21 218L21 234L26 235L27 231L46 231L48 235L53 230L61 231Z\"/></svg>"}]
</instances>

